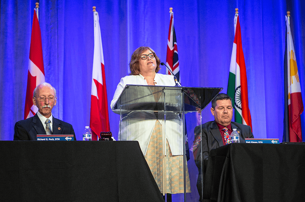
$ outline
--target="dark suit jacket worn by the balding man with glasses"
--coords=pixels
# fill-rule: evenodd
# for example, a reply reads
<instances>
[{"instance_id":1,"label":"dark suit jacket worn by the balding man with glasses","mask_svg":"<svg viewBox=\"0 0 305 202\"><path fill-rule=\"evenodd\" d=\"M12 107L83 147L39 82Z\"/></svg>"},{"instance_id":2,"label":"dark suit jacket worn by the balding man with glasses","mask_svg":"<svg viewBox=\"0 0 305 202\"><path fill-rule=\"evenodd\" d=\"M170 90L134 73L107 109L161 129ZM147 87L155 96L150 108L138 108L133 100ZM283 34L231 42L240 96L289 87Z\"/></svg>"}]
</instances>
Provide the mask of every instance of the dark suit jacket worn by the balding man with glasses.
<instances>
[{"instance_id":1,"label":"dark suit jacket worn by the balding man with glasses","mask_svg":"<svg viewBox=\"0 0 305 202\"><path fill-rule=\"evenodd\" d=\"M53 135L73 135L74 140L76 140L71 124L56 119L53 116L52 125ZM37 135L46 135L45 129L37 114L28 119L16 122L14 140L37 140Z\"/></svg>"}]
</instances>

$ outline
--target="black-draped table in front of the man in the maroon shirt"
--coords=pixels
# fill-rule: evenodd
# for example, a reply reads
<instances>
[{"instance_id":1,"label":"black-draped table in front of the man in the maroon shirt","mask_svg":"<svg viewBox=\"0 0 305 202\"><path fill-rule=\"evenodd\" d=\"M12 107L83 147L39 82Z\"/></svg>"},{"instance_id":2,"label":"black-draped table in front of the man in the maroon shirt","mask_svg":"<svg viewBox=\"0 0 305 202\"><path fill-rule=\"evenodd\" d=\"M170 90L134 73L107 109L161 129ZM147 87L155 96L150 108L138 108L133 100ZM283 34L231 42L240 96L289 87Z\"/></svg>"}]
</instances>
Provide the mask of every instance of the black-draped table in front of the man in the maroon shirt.
<instances>
[{"instance_id":1,"label":"black-draped table in front of the man in the maroon shirt","mask_svg":"<svg viewBox=\"0 0 305 202\"><path fill-rule=\"evenodd\" d=\"M206 166L203 201L305 201L305 145L233 143Z\"/></svg>"}]
</instances>

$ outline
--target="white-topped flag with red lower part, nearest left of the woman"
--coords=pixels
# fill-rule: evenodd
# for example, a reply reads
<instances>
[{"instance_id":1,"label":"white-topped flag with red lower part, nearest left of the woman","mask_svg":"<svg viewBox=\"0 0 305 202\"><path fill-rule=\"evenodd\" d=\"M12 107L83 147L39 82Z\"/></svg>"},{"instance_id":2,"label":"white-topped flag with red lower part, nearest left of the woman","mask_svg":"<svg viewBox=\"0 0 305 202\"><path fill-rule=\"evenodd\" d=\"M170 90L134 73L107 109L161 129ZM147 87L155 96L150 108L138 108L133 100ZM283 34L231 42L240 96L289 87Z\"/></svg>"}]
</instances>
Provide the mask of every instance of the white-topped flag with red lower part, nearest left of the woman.
<instances>
[{"instance_id":1,"label":"white-topped flag with red lower part, nearest left of the woman","mask_svg":"<svg viewBox=\"0 0 305 202\"><path fill-rule=\"evenodd\" d=\"M94 11L94 54L91 86L90 128L92 140L101 132L110 132L108 101L105 80L104 56L99 27L99 13Z\"/></svg>"}]
</instances>

